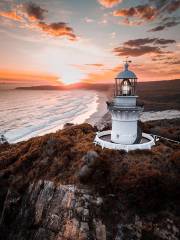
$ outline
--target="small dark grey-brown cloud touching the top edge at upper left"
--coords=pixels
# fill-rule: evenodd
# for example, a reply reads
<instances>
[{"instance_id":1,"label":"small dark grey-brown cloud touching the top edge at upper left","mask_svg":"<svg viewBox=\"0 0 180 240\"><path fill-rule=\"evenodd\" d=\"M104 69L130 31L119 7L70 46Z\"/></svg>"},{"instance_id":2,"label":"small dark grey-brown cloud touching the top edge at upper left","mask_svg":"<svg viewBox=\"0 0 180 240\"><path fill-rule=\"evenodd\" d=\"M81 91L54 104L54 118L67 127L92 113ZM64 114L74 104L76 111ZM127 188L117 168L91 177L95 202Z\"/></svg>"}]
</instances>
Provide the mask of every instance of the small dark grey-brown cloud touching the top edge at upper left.
<instances>
[{"instance_id":1,"label":"small dark grey-brown cloud touching the top edge at upper left","mask_svg":"<svg viewBox=\"0 0 180 240\"><path fill-rule=\"evenodd\" d=\"M48 10L32 2L24 4L24 11L30 20L44 20L45 13L48 12Z\"/></svg>"}]
</instances>

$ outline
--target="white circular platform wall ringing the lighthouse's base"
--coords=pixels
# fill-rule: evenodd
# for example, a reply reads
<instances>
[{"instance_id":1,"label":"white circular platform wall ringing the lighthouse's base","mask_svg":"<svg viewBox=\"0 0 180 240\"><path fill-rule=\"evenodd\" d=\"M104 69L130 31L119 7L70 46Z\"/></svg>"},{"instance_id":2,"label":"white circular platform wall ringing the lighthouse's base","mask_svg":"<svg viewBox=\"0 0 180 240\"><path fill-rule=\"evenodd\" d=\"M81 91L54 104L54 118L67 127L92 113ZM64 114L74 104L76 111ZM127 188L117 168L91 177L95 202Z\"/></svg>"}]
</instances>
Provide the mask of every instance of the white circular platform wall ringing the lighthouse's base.
<instances>
[{"instance_id":1,"label":"white circular platform wall ringing the lighthouse's base","mask_svg":"<svg viewBox=\"0 0 180 240\"><path fill-rule=\"evenodd\" d=\"M94 139L94 143L100 145L102 148L109 148L115 150L125 150L126 152L136 150L136 149L151 149L155 145L154 138L147 133L142 133L141 142L138 144L120 144L111 142L111 130L97 132Z\"/></svg>"}]
</instances>

